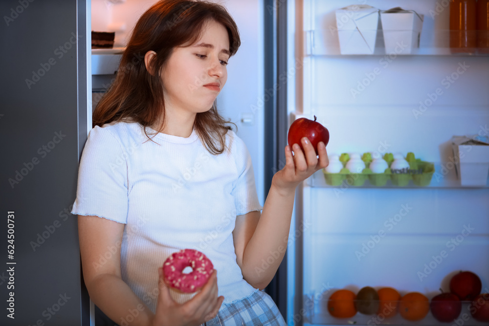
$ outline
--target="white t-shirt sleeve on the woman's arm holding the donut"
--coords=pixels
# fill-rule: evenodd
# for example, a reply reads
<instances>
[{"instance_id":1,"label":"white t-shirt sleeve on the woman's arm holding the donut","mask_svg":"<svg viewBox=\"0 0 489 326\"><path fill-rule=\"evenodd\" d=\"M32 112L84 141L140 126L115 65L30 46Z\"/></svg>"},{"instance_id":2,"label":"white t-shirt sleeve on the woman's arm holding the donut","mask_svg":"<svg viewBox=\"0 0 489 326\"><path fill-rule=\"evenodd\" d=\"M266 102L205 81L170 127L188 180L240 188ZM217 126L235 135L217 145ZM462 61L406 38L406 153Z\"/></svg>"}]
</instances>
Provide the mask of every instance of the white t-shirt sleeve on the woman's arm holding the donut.
<instances>
[{"instance_id":1,"label":"white t-shirt sleeve on the woman's arm holding the donut","mask_svg":"<svg viewBox=\"0 0 489 326\"><path fill-rule=\"evenodd\" d=\"M121 144L107 128L90 130L78 170L71 214L127 222L127 162Z\"/></svg>"}]
</instances>

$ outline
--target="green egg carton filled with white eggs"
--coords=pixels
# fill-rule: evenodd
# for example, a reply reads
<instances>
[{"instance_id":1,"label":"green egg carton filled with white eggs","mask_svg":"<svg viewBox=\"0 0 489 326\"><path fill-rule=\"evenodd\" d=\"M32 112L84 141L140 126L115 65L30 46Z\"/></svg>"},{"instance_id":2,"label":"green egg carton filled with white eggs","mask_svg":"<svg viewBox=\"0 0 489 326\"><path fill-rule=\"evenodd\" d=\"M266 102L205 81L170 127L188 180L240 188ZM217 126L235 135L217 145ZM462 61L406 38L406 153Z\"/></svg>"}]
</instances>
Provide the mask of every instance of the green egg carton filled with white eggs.
<instances>
[{"instance_id":1,"label":"green egg carton filled with white eggs","mask_svg":"<svg viewBox=\"0 0 489 326\"><path fill-rule=\"evenodd\" d=\"M339 160L340 163L335 161ZM375 162L375 163L373 163ZM341 156L330 158L330 164L342 168L338 173L328 172L328 168L323 169L326 183L330 186L339 186L344 181L350 186L362 186L368 179L373 186L385 186L387 181L394 186L404 187L412 180L416 186L425 187L431 183L431 178L435 172L435 165L432 162L425 162L409 152L405 157L401 154L385 153L382 159L372 160L372 154L364 153L361 157L358 154L342 153ZM353 171L351 171L353 170Z\"/></svg>"}]
</instances>

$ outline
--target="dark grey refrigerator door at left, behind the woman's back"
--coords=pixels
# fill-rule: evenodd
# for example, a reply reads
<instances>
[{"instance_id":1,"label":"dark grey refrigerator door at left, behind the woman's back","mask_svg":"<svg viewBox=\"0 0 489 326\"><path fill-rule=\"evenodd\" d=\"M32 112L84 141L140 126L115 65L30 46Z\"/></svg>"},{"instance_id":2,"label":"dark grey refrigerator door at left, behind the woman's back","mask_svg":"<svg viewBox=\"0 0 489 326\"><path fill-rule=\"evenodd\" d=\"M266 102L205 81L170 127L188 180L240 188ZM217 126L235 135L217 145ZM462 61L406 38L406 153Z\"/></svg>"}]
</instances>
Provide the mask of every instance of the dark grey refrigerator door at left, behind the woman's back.
<instances>
[{"instance_id":1,"label":"dark grey refrigerator door at left, behind the woman's back","mask_svg":"<svg viewBox=\"0 0 489 326\"><path fill-rule=\"evenodd\" d=\"M89 325L69 213L89 119L87 6L0 2L0 325Z\"/></svg>"}]
</instances>

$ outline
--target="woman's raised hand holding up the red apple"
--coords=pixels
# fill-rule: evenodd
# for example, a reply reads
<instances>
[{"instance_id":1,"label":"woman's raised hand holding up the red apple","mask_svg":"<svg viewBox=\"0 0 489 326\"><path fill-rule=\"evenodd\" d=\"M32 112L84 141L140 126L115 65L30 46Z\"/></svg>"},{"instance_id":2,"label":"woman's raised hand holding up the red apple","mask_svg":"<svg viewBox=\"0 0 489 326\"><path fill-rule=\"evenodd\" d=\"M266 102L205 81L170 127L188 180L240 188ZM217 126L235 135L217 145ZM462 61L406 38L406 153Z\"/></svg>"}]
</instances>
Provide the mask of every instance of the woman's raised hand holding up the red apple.
<instances>
[{"instance_id":1,"label":"woman's raised hand holding up the red apple","mask_svg":"<svg viewBox=\"0 0 489 326\"><path fill-rule=\"evenodd\" d=\"M301 139L302 152L298 144L293 144L285 148L285 167L277 172L272 179L274 184L279 189L294 191L297 185L310 177L314 172L324 169L328 166L328 153L323 142L317 144L317 152L312 147L311 141L303 137ZM294 154L292 155L292 151Z\"/></svg>"}]
</instances>

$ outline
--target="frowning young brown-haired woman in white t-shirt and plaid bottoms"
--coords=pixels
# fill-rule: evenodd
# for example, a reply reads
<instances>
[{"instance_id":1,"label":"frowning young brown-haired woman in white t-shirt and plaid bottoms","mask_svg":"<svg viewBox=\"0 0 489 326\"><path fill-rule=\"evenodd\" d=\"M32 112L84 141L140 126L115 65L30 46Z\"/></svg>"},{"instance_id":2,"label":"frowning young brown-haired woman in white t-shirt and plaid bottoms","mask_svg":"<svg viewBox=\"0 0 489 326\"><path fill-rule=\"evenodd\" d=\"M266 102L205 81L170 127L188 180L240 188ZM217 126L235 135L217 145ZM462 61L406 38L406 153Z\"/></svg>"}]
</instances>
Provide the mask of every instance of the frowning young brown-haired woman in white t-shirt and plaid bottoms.
<instances>
[{"instance_id":1,"label":"frowning young brown-haired woman in white t-shirt and plaid bottoms","mask_svg":"<svg viewBox=\"0 0 489 326\"><path fill-rule=\"evenodd\" d=\"M287 146L260 205L246 146L215 106L239 46L222 6L160 1L94 112L72 214L90 298L120 325L285 325L261 290L284 257L296 186L328 158L306 138L304 152ZM166 287L161 270L185 248L215 269L191 295Z\"/></svg>"}]
</instances>

